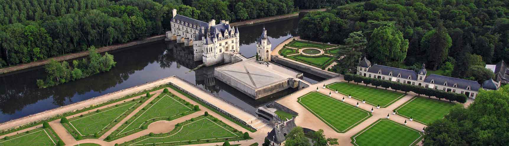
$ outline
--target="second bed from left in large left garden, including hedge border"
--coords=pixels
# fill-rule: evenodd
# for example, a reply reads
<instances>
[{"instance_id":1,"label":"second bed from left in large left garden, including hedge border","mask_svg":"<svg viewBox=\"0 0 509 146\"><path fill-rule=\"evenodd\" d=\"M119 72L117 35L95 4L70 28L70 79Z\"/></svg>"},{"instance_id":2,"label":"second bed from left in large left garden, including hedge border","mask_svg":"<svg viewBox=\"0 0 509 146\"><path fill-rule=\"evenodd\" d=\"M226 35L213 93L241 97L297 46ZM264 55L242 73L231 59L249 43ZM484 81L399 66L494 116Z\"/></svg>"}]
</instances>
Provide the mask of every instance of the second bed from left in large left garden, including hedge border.
<instances>
[{"instance_id":1,"label":"second bed from left in large left garden, including hedge border","mask_svg":"<svg viewBox=\"0 0 509 146\"><path fill-rule=\"evenodd\" d=\"M62 125L76 139L99 138L119 123L129 113L150 98L150 94L139 99L124 102L94 112L81 114L69 120L61 120ZM66 122L67 121L67 122Z\"/></svg>"}]
</instances>

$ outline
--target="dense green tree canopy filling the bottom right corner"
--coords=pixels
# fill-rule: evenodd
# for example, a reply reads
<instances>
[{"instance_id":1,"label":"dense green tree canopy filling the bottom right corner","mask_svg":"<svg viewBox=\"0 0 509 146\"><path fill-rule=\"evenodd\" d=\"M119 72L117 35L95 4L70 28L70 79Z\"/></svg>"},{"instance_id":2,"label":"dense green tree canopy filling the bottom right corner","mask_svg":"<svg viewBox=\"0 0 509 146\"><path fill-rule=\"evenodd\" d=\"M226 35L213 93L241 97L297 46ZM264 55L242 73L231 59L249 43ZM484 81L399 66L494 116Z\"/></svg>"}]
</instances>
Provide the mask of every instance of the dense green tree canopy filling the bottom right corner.
<instances>
[{"instance_id":1,"label":"dense green tree canopy filling the bottom right corner","mask_svg":"<svg viewBox=\"0 0 509 146\"><path fill-rule=\"evenodd\" d=\"M509 144L509 85L480 91L468 108L451 109L426 128L423 145Z\"/></svg>"}]
</instances>

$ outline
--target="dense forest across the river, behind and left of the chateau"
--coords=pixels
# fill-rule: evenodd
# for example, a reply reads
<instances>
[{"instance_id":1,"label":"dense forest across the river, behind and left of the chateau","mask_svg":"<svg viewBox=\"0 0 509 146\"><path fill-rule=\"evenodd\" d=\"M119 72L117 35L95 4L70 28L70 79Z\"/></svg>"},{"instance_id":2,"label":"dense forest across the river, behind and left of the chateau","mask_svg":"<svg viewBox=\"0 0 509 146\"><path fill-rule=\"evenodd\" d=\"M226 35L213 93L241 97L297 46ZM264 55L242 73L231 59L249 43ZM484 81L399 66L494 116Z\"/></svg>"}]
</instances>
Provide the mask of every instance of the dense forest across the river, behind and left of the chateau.
<instances>
[{"instance_id":1,"label":"dense forest across the river, behind and left of the chateau","mask_svg":"<svg viewBox=\"0 0 509 146\"><path fill-rule=\"evenodd\" d=\"M172 9L205 22L235 22L296 12L294 1L0 0L0 68L163 34Z\"/></svg>"}]
</instances>

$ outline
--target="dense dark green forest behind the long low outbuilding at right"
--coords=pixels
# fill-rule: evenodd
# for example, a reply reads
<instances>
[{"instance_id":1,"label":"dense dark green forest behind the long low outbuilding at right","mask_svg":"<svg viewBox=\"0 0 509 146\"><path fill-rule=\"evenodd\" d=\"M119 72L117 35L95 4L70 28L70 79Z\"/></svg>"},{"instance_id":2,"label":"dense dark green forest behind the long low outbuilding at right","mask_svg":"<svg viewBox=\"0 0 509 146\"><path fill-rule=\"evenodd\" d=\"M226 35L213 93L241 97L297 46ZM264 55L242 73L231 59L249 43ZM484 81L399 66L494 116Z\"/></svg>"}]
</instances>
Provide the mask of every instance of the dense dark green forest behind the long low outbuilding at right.
<instances>
[{"instance_id":1,"label":"dense dark green forest behind the long low outbuilding at right","mask_svg":"<svg viewBox=\"0 0 509 146\"><path fill-rule=\"evenodd\" d=\"M361 32L367 40L364 47L340 54L352 56L347 58L350 62L367 56L372 63L410 70L426 64L441 75L480 81L493 77L486 64L509 60L508 8L509 1L356 2L307 14L300 20L299 35L355 45L345 40ZM332 70L352 72L355 66Z\"/></svg>"}]
</instances>

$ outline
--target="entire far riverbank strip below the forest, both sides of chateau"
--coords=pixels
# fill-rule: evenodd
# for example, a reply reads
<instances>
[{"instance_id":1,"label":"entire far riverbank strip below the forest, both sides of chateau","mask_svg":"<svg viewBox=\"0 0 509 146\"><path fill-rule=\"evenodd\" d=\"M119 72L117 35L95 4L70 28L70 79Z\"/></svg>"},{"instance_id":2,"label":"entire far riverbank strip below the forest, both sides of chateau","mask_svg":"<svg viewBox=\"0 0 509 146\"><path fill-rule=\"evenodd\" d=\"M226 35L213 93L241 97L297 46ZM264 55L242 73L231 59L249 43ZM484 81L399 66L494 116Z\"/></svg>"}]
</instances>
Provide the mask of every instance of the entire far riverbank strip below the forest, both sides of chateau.
<instances>
[{"instance_id":1,"label":"entire far riverbank strip below the forest, both sides of chateau","mask_svg":"<svg viewBox=\"0 0 509 146\"><path fill-rule=\"evenodd\" d=\"M254 23L268 22L268 21L273 21L273 20L278 20L278 19L285 19L285 18L299 16L299 13L303 13L303 12L325 11L325 10L326 9L300 10L299 12L294 12L294 13L286 14L286 15L278 15L278 16L271 16L271 17L235 22L235 23L231 23L231 25L242 26L242 25L248 25L248 24L254 24ZM102 48L97 49L97 52L101 53L101 52L121 49L121 48L125 48L125 47L135 46L135 45L139 45L139 44L155 42L155 41L163 40L164 38L165 38L165 35L152 36L152 37L149 37L149 38L146 38L143 40L134 41L134 42L102 47ZM88 54L89 54L88 51L83 51L83 52L71 53L71 54L67 54L67 55L63 55L63 56L58 56L58 57L51 57L47 60L26 63L26 64L20 64L20 65L16 65L16 66L12 66L12 67L7 67L7 68L1 68L0 75L9 73L9 72L23 70L23 69L29 69L29 68L33 68L33 67L37 67L37 66L43 66L43 65L48 64L49 60L51 60L51 59L60 62L60 61L75 59L77 57L86 56Z\"/></svg>"}]
</instances>

